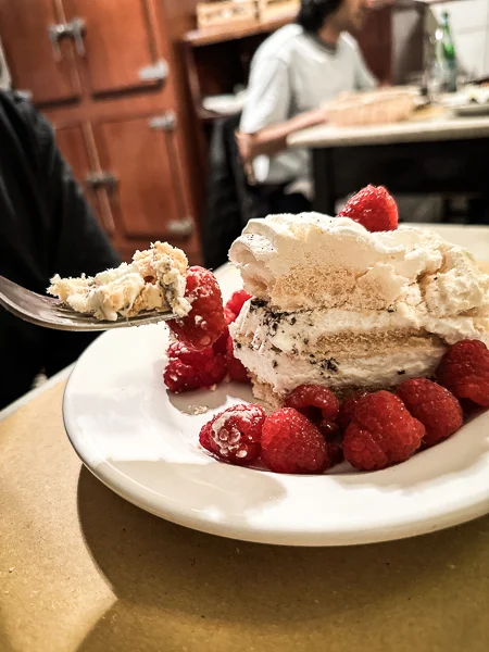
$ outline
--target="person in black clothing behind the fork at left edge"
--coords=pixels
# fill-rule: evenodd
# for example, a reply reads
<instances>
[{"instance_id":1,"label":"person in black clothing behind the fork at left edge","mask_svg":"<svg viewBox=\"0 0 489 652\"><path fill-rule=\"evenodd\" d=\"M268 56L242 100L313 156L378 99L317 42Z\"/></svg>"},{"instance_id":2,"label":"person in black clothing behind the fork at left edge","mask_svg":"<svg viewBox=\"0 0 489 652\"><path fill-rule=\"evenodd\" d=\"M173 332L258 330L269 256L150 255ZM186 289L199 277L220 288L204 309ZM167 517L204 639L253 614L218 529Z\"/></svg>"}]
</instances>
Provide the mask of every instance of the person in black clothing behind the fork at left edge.
<instances>
[{"instance_id":1,"label":"person in black clothing behind the fork at left edge","mask_svg":"<svg viewBox=\"0 0 489 652\"><path fill-rule=\"evenodd\" d=\"M0 91L0 275L45 293L49 279L120 264L55 145L49 123ZM0 409L74 362L93 335L49 330L0 308Z\"/></svg>"}]
</instances>

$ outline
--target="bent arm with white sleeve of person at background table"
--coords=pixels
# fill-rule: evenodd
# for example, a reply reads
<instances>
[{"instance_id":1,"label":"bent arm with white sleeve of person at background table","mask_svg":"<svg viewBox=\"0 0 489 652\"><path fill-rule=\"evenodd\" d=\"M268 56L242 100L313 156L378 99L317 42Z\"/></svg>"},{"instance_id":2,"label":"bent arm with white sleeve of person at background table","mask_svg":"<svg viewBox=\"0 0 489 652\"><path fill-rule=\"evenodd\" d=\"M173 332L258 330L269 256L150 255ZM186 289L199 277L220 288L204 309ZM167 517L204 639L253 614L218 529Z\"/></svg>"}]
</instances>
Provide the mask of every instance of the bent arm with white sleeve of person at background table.
<instances>
[{"instance_id":1,"label":"bent arm with white sleeve of person at background table","mask_svg":"<svg viewBox=\"0 0 489 652\"><path fill-rule=\"evenodd\" d=\"M276 154L287 147L290 134L324 122L321 109L289 118L291 96L288 68L280 59L258 62L252 67L237 135L244 161L252 161L261 154Z\"/></svg>"}]
</instances>

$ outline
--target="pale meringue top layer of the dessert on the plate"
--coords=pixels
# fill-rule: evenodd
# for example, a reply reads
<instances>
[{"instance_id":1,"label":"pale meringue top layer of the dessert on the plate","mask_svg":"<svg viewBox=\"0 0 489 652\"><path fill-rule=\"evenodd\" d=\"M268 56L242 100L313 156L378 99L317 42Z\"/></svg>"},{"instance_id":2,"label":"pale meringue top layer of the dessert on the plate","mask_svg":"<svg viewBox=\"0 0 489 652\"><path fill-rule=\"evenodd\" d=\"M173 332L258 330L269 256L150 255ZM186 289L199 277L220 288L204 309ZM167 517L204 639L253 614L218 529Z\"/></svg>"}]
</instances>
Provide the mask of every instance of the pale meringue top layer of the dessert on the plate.
<instances>
[{"instance_id":1,"label":"pale meringue top layer of the dessert on the plate","mask_svg":"<svg viewBox=\"0 0 489 652\"><path fill-rule=\"evenodd\" d=\"M283 311L388 310L489 317L489 276L472 254L429 230L369 233L318 213L251 220L230 261L244 288Z\"/></svg>"}]
</instances>

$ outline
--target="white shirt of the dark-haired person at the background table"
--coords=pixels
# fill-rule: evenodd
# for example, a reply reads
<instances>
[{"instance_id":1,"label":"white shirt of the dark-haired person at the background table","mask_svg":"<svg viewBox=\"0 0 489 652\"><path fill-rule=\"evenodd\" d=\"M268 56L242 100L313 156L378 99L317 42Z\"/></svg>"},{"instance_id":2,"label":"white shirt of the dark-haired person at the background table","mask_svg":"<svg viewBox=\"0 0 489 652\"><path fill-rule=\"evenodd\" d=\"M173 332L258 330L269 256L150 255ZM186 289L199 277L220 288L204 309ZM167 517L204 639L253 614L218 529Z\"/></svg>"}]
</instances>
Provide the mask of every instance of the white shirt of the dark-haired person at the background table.
<instances>
[{"instance_id":1,"label":"white shirt of the dark-haired person at the background table","mask_svg":"<svg viewBox=\"0 0 489 652\"><path fill-rule=\"evenodd\" d=\"M318 109L343 91L366 90L375 85L349 34L342 34L337 46L330 47L300 25L287 25L268 37L254 54L240 129L255 134ZM253 170L259 184L294 181L294 189L310 195L311 162L306 150L258 156Z\"/></svg>"}]
</instances>

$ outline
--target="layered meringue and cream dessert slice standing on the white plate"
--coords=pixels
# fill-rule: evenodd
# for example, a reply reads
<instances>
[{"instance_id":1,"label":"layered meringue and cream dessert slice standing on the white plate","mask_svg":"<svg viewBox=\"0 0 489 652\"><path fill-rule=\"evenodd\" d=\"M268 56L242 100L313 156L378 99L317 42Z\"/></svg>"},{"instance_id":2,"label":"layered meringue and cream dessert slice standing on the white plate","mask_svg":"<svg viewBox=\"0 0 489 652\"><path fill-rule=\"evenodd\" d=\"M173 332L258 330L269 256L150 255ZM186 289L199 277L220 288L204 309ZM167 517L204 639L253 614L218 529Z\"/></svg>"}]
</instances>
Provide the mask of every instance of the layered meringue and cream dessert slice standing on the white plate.
<instances>
[{"instance_id":1,"label":"layered meringue and cream dessert slice standing on the white plate","mask_svg":"<svg viewBox=\"0 0 489 652\"><path fill-rule=\"evenodd\" d=\"M489 344L489 276L422 228L371 233L318 213L252 220L230 261L252 296L229 330L256 398L430 377L449 344Z\"/></svg>"}]
</instances>

